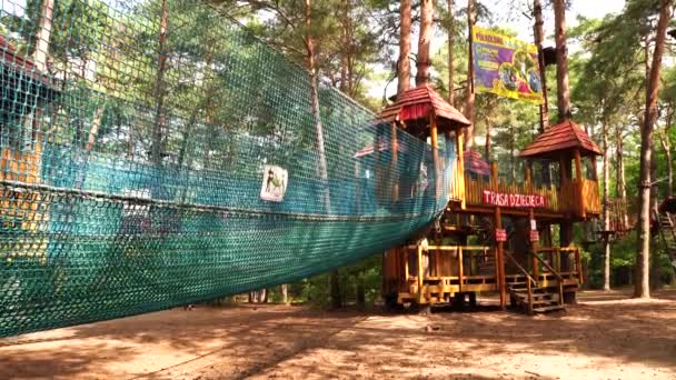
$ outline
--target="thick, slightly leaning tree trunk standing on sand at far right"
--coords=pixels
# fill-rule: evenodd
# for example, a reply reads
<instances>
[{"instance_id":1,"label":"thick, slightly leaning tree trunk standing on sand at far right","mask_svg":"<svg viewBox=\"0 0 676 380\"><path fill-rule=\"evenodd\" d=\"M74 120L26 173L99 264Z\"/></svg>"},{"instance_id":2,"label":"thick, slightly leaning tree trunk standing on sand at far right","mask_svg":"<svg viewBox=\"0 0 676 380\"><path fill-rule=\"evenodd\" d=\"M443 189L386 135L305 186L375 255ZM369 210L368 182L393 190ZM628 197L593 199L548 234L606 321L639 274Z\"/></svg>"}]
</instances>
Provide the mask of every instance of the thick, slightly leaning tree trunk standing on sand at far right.
<instances>
[{"instance_id":1,"label":"thick, slightly leaning tree trunk standing on sand at far right","mask_svg":"<svg viewBox=\"0 0 676 380\"><path fill-rule=\"evenodd\" d=\"M640 298L650 298L650 164L653 160L653 133L657 120L657 93L659 90L662 57L664 56L666 30L670 17L672 0L662 0L653 64L650 66L650 76L646 86L646 110L640 129L640 170L638 183L640 211L638 214L636 252L636 273L639 278L634 283L634 297Z\"/></svg>"}]
</instances>

